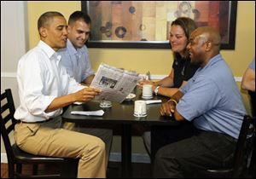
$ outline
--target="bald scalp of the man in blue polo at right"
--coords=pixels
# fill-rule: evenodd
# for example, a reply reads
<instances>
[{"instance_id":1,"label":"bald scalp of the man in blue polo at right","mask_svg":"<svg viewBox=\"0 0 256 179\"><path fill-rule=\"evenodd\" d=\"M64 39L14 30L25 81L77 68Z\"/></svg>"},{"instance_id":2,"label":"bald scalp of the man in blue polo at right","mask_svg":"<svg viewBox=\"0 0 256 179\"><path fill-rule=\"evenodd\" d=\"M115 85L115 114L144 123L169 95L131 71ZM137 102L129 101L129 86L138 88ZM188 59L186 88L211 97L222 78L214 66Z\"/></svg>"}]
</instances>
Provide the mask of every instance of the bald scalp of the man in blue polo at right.
<instances>
[{"instance_id":1,"label":"bald scalp of the man in blue polo at right","mask_svg":"<svg viewBox=\"0 0 256 179\"><path fill-rule=\"evenodd\" d=\"M195 29L194 32L192 32L192 35L194 36L194 38L199 38L199 41L201 41L201 43L212 43L212 49L219 50L221 38L219 32L211 26L198 27L197 29Z\"/></svg>"}]
</instances>

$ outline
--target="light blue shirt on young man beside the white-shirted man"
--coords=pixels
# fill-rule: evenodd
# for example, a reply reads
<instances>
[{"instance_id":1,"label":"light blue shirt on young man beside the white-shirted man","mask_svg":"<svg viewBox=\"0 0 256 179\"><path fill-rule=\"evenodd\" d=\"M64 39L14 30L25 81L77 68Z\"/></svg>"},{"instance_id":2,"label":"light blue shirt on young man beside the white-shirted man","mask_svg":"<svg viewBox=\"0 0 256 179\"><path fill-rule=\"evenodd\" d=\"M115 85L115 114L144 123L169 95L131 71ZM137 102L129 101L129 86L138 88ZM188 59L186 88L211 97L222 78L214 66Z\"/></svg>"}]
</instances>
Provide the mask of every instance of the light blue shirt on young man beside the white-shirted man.
<instances>
[{"instance_id":1,"label":"light blue shirt on young man beside the white-shirted man","mask_svg":"<svg viewBox=\"0 0 256 179\"><path fill-rule=\"evenodd\" d=\"M75 78L77 82L81 83L85 78L94 74L85 45L80 49L75 49L67 39L67 48L60 49L58 54L61 55L61 65L67 68L70 77Z\"/></svg>"}]
</instances>

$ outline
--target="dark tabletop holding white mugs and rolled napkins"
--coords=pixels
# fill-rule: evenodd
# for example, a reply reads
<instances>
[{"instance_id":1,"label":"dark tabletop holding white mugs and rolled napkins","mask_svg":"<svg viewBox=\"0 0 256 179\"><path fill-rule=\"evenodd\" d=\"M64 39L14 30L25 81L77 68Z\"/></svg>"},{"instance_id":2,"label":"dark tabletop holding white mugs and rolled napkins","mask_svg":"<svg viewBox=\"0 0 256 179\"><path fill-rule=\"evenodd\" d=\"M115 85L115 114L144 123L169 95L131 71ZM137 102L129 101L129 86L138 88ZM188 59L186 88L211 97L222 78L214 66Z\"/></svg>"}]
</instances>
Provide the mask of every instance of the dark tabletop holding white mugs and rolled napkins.
<instances>
[{"instance_id":1,"label":"dark tabletop holding white mugs and rolled napkins","mask_svg":"<svg viewBox=\"0 0 256 179\"><path fill-rule=\"evenodd\" d=\"M167 101L168 98L161 95L154 95L154 100L161 99ZM90 123L111 123L111 124L149 124L149 125L176 125L179 122L170 117L160 116L160 103L147 105L146 117L133 116L134 101L142 100L141 90L137 90L136 98L131 101L123 101L122 103L112 102L112 107L102 108L100 107L100 101L90 101L83 103L82 105L70 105L67 111L63 113L62 117L66 122L73 123L85 123L84 121L90 121ZM84 116L73 115L72 111L96 111L103 109L105 112L102 117L98 116Z\"/></svg>"}]
</instances>

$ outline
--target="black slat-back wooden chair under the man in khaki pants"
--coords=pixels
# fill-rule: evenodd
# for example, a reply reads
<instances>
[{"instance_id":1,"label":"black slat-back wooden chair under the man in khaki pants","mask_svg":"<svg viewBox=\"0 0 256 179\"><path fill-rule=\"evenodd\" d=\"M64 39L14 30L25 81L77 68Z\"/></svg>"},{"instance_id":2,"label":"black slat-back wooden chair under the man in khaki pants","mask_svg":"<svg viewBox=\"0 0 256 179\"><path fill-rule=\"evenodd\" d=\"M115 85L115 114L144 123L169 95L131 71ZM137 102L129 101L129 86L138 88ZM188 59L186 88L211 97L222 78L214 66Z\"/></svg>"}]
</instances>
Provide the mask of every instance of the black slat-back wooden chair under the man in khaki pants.
<instances>
[{"instance_id":1,"label":"black slat-back wooden chair under the man in khaki pants","mask_svg":"<svg viewBox=\"0 0 256 179\"><path fill-rule=\"evenodd\" d=\"M1 136L8 159L9 178L14 177L76 177L78 159L63 159L46 156L38 156L22 151L16 144L11 144L10 133L15 130L17 120L14 118L15 104L11 90L5 90L1 94ZM22 165L32 165L32 175L22 174ZM39 164L55 164L61 166L61 170L54 174L38 174ZM71 167L72 166L72 167ZM74 167L74 168L73 168ZM53 172L53 171L50 171ZM72 176L73 174L73 176Z\"/></svg>"}]
</instances>

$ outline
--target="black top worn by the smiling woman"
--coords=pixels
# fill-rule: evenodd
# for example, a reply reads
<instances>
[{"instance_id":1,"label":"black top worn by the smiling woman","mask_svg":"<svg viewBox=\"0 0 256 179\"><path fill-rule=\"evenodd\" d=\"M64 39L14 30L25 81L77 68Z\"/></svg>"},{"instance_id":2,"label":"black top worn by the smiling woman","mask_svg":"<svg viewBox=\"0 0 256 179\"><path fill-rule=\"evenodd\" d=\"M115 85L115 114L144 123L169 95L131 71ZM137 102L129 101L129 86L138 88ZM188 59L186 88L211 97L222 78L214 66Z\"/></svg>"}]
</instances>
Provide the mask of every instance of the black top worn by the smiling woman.
<instances>
[{"instance_id":1,"label":"black top worn by the smiling woman","mask_svg":"<svg viewBox=\"0 0 256 179\"><path fill-rule=\"evenodd\" d=\"M198 67L192 65L190 59L183 59L180 55L177 55L172 64L174 69L173 88L179 88L183 81L188 81L189 78L192 78Z\"/></svg>"}]
</instances>

